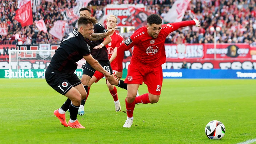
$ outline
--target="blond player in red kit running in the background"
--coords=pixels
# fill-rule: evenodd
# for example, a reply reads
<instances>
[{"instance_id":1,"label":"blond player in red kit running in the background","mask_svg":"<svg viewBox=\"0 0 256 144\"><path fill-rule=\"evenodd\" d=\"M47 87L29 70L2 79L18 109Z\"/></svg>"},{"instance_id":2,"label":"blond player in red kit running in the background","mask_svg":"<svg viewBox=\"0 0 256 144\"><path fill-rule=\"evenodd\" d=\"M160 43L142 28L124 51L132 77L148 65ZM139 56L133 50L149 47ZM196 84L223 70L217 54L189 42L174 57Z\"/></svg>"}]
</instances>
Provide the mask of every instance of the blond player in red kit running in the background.
<instances>
[{"instance_id":1,"label":"blond player in red kit running in the background","mask_svg":"<svg viewBox=\"0 0 256 144\"><path fill-rule=\"evenodd\" d=\"M115 28L116 23L117 23L116 16L115 15L109 15L108 18L107 18L107 30ZM105 45L105 47L107 47L107 49L108 49L109 62L111 64L113 74L115 74L115 72L117 70L116 49L117 49L117 47L119 47L119 45L121 43L123 43L124 38L122 36L120 36L115 31L113 31L112 34L109 35L109 36L111 37L112 41L110 43L108 43L107 45ZM103 73L101 73L99 71L96 71L94 73L94 75L92 76L91 80L88 83L88 90L90 89L91 85L94 82L97 83L97 81L99 81L103 77L104 77ZM120 112L121 111L121 106L120 106L120 102L119 102L119 99L118 99L118 96L117 96L117 89L114 85L111 85L108 80L106 81L106 83L107 83L109 92L111 93L111 95L114 99L116 112ZM119 83L115 83L115 84L118 85ZM89 91L88 91L88 95L89 95Z\"/></svg>"}]
</instances>

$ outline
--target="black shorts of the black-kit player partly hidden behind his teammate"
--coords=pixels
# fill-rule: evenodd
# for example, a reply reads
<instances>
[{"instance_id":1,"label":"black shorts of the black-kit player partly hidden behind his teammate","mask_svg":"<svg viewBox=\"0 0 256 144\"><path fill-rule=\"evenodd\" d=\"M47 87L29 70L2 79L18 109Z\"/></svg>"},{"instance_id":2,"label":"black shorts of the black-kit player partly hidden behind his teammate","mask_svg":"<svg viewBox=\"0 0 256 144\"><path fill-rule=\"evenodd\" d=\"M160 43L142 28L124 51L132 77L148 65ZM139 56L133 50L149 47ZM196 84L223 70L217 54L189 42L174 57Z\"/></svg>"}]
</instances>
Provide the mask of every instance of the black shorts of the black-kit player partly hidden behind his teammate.
<instances>
[{"instance_id":1,"label":"black shorts of the black-kit player partly hidden behind his teammate","mask_svg":"<svg viewBox=\"0 0 256 144\"><path fill-rule=\"evenodd\" d=\"M109 60L99 60L99 63L111 75L113 74L113 70L110 66ZM92 77L96 71L94 68L92 68L92 66L89 63L83 64L82 68L84 69L83 75L88 75L90 77Z\"/></svg>"}]
</instances>

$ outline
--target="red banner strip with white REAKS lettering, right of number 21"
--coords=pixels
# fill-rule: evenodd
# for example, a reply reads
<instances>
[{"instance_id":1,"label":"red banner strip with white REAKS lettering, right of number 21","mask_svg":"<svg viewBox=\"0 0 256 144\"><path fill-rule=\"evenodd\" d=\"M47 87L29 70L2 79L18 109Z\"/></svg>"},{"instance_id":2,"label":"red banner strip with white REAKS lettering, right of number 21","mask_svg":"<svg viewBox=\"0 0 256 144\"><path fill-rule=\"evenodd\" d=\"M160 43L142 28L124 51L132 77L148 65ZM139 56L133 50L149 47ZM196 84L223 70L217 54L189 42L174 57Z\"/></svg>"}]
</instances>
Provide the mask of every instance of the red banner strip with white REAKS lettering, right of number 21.
<instances>
[{"instance_id":1,"label":"red banner strip with white REAKS lettering, right of number 21","mask_svg":"<svg viewBox=\"0 0 256 144\"><path fill-rule=\"evenodd\" d=\"M249 44L165 44L167 59L251 59L250 49Z\"/></svg>"}]
</instances>

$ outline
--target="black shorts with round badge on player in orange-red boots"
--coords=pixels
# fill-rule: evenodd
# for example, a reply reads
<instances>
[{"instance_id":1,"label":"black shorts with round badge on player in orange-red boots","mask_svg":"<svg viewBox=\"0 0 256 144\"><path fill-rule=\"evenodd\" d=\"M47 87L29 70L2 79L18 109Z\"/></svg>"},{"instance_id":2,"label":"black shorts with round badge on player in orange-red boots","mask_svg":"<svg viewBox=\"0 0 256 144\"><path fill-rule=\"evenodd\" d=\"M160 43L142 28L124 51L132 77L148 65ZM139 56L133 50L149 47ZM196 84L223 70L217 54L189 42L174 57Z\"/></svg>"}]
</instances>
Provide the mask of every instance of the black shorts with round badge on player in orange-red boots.
<instances>
[{"instance_id":1,"label":"black shorts with round badge on player in orange-red boots","mask_svg":"<svg viewBox=\"0 0 256 144\"><path fill-rule=\"evenodd\" d=\"M81 84L81 80L75 73L53 72L49 68L45 71L45 80L55 91L62 95L65 95L72 86L75 87Z\"/></svg>"}]
</instances>

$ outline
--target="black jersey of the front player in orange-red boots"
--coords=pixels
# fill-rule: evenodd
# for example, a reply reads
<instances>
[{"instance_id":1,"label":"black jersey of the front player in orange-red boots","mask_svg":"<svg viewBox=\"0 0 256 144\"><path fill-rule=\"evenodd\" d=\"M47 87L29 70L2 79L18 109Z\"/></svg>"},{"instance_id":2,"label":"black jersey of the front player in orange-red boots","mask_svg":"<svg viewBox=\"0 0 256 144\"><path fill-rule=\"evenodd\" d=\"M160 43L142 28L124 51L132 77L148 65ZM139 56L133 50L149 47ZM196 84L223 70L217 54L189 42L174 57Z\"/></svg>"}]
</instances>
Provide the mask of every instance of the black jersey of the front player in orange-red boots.
<instances>
[{"instance_id":1,"label":"black jersey of the front player in orange-red boots","mask_svg":"<svg viewBox=\"0 0 256 144\"><path fill-rule=\"evenodd\" d=\"M77 61L90 54L90 47L77 28L70 32L60 43L48 68L72 74L77 68Z\"/></svg>"}]
</instances>

